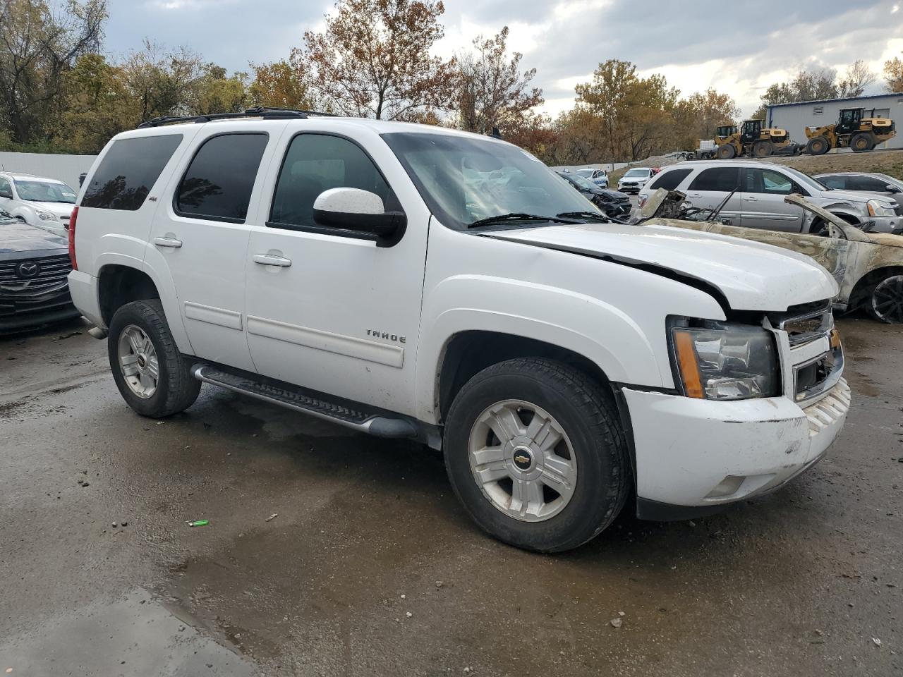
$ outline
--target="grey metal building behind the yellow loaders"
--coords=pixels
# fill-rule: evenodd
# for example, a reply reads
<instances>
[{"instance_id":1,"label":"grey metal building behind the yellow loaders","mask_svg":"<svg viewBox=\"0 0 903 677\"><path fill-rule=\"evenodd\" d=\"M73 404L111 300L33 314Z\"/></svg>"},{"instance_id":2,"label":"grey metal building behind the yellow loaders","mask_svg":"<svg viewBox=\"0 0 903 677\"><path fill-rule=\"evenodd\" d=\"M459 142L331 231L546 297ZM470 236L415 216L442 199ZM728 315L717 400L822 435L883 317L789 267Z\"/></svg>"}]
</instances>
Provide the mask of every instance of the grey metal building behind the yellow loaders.
<instances>
[{"instance_id":1,"label":"grey metal building behind the yellow loaders","mask_svg":"<svg viewBox=\"0 0 903 677\"><path fill-rule=\"evenodd\" d=\"M805 144L805 127L835 123L843 108L865 108L866 116L889 117L894 120L897 123L897 135L878 148L903 148L903 93L776 104L768 107L766 121L769 127L786 129L796 143Z\"/></svg>"}]
</instances>

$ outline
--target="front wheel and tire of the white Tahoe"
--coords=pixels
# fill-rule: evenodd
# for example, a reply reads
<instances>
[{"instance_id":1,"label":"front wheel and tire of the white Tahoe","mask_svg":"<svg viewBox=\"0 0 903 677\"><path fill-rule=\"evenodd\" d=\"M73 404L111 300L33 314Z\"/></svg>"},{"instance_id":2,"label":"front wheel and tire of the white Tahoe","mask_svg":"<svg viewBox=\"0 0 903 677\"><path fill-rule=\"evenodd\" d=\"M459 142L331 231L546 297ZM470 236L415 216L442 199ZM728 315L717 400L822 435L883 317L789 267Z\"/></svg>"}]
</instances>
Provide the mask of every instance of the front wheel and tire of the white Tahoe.
<instances>
[{"instance_id":1,"label":"front wheel and tire of the white Tahoe","mask_svg":"<svg viewBox=\"0 0 903 677\"><path fill-rule=\"evenodd\" d=\"M532 437L530 424L542 426ZM587 543L618 516L630 490L627 444L610 396L550 359L521 357L473 376L449 410L443 448L470 518L525 550Z\"/></svg>"}]
</instances>

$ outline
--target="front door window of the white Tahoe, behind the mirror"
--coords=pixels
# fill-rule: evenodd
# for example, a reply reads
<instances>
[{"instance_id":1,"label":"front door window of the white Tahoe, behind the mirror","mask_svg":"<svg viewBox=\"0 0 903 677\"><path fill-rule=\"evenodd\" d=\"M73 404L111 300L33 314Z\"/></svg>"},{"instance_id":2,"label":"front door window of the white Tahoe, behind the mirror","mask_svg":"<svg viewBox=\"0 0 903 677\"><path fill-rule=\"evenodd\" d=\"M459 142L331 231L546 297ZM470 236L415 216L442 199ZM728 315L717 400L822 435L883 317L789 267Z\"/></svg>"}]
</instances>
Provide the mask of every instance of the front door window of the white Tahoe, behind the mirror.
<instances>
[{"instance_id":1,"label":"front door window of the white Tahoe, behind the mirror","mask_svg":"<svg viewBox=\"0 0 903 677\"><path fill-rule=\"evenodd\" d=\"M387 211L401 209L377 166L348 139L298 134L276 181L270 227L312 227L313 201L323 190L358 188L376 193Z\"/></svg>"}]
</instances>

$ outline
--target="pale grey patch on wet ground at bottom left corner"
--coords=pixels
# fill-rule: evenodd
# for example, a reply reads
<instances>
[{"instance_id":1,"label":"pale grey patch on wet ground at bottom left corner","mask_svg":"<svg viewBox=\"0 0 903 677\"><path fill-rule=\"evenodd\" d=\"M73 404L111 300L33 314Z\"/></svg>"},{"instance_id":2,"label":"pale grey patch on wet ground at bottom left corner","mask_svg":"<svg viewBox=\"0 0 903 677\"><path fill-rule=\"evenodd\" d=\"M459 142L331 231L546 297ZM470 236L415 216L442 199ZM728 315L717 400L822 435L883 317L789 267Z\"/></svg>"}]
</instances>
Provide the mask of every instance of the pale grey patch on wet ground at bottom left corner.
<instances>
[{"instance_id":1,"label":"pale grey patch on wet ground at bottom left corner","mask_svg":"<svg viewBox=\"0 0 903 677\"><path fill-rule=\"evenodd\" d=\"M0 641L0 670L86 677L258 673L254 663L201 635L191 622L135 589L112 604L91 604Z\"/></svg>"}]
</instances>

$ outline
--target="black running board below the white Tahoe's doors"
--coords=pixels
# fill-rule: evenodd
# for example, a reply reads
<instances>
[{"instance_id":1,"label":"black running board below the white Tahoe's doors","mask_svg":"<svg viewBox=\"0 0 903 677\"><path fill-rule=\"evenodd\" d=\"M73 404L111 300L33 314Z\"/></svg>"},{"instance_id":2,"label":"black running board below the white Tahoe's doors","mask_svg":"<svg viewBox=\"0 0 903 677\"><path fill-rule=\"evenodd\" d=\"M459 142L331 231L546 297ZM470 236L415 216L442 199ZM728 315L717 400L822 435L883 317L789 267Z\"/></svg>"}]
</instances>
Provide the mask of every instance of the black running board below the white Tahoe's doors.
<instances>
[{"instance_id":1,"label":"black running board below the white Tahoe's doors","mask_svg":"<svg viewBox=\"0 0 903 677\"><path fill-rule=\"evenodd\" d=\"M219 385L236 393L246 394L264 402L278 404L296 412L308 413L320 419L339 423L347 428L368 432L377 437L417 440L418 434L413 422L404 418L386 416L361 409L349 404L318 399L302 390L293 390L269 385L247 376L236 376L209 365L191 367L191 375L203 383Z\"/></svg>"}]
</instances>

